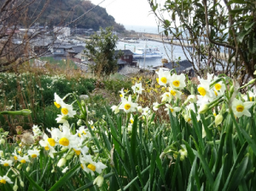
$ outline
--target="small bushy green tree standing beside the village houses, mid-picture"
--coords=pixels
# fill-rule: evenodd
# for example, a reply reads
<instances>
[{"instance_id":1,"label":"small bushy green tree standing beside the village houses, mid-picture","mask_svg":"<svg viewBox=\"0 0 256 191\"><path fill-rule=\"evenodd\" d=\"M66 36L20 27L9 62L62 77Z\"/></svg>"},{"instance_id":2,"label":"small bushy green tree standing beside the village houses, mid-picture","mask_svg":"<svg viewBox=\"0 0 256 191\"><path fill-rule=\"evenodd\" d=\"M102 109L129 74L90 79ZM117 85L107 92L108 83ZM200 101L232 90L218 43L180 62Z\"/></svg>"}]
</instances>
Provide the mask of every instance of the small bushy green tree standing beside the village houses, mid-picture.
<instances>
[{"instance_id":1,"label":"small bushy green tree standing beside the village houses, mid-picture","mask_svg":"<svg viewBox=\"0 0 256 191\"><path fill-rule=\"evenodd\" d=\"M85 45L85 54L93 61L91 69L97 76L109 76L118 69L117 59L120 54L115 54L114 48L118 37L113 35L113 27L105 30L100 28L100 33L91 36L90 42Z\"/></svg>"}]
</instances>

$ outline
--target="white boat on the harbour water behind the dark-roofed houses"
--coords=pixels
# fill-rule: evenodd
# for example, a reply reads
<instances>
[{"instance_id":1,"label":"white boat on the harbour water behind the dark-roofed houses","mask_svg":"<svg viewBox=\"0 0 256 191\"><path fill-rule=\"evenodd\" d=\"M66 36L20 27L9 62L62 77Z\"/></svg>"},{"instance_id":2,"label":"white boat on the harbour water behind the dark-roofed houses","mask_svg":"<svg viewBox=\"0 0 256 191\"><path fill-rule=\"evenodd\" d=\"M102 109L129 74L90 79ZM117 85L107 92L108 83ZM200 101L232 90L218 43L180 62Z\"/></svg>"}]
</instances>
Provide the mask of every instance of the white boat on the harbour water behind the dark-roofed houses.
<instances>
[{"instance_id":1,"label":"white boat on the harbour water behind the dark-roofed houses","mask_svg":"<svg viewBox=\"0 0 256 191\"><path fill-rule=\"evenodd\" d=\"M162 55L157 48L137 48L133 52L133 58L161 58Z\"/></svg>"}]
</instances>

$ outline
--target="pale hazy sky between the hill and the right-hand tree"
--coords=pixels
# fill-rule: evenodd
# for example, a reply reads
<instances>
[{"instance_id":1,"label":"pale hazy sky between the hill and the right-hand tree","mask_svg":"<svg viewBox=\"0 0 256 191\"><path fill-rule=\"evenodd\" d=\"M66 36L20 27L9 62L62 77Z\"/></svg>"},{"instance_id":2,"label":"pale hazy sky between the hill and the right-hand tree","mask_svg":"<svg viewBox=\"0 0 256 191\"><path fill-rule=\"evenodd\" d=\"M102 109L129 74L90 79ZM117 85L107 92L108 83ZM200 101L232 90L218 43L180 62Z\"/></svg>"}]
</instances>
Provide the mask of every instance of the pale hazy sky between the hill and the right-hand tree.
<instances>
[{"instance_id":1,"label":"pale hazy sky between the hill and the right-hand tree","mask_svg":"<svg viewBox=\"0 0 256 191\"><path fill-rule=\"evenodd\" d=\"M94 4L102 2L90 1ZM100 6L106 8L108 14L124 26L157 26L147 0L105 0Z\"/></svg>"}]
</instances>

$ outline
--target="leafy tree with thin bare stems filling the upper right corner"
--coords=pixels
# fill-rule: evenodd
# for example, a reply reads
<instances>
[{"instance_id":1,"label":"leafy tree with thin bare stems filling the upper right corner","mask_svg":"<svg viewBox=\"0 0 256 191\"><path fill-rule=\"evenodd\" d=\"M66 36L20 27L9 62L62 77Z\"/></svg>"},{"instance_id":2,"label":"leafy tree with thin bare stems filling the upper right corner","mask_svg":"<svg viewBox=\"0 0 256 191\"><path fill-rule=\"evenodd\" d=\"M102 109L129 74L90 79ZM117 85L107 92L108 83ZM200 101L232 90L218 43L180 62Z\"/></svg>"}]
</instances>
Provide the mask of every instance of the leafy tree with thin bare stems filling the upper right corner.
<instances>
[{"instance_id":1,"label":"leafy tree with thin bare stems filling the upper right corner","mask_svg":"<svg viewBox=\"0 0 256 191\"><path fill-rule=\"evenodd\" d=\"M198 75L207 67L239 78L256 69L256 1L148 0L164 34L182 45ZM187 46L189 43L189 46Z\"/></svg>"}]
</instances>

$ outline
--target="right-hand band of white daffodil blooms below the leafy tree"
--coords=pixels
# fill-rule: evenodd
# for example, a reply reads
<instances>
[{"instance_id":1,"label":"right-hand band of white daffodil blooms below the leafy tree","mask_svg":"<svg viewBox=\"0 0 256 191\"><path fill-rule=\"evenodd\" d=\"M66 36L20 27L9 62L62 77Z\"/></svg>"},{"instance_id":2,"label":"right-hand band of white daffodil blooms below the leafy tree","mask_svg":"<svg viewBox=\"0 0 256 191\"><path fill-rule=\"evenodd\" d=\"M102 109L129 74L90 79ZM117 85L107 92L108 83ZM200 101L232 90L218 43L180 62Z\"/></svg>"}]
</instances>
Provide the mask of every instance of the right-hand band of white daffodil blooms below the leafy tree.
<instances>
[{"instance_id":1,"label":"right-hand band of white daffodil blooms below the leafy tree","mask_svg":"<svg viewBox=\"0 0 256 191\"><path fill-rule=\"evenodd\" d=\"M135 84L131 87L133 92L120 90L121 101L119 106L113 106L112 110L114 113L123 110L130 114L128 130L131 130L132 113L142 113L139 118L148 119L160 108L163 108L166 114L172 113L174 117L183 116L183 119L188 123L191 123L191 111L195 113L197 121L201 120L201 113L212 113L212 117L216 118L216 125L221 124L225 112L232 112L237 118L243 115L251 116L249 109L253 107L256 95L251 90L248 91L247 95L241 95L238 93L241 88L237 86L237 83L234 84L230 78L217 77L210 73L207 73L206 79L198 77L200 83L197 86L198 95L195 95L195 90L191 88L191 95L183 100L183 89L191 84L190 81L186 80L185 75L183 73L172 74L163 71L161 68L156 73L156 81L162 86L162 90L159 91L162 95L160 95L160 99L156 97L155 102L150 98L151 102L148 103L147 107L143 108L140 105L143 103L140 101L140 97L148 93L147 84L146 90L144 90L142 83L138 83L138 80L135 81L135 78ZM139 78L139 80L142 80L142 78ZM253 81L248 84L253 84ZM248 84L244 87L247 87ZM147 111L147 113L143 111ZM202 129L202 136L206 136L204 128Z\"/></svg>"}]
</instances>

